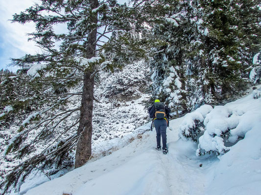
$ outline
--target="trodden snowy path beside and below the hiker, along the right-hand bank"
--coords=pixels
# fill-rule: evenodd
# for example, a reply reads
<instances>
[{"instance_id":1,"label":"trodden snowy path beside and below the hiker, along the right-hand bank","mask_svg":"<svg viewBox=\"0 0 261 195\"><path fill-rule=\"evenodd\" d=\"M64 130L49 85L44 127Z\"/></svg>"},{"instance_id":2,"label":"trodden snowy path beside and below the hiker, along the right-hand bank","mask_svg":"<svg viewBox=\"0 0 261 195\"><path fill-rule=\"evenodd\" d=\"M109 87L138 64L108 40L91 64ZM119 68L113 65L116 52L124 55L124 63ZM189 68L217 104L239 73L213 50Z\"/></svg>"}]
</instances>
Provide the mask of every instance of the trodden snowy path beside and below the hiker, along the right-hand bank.
<instances>
[{"instance_id":1,"label":"trodden snowy path beside and below the hiker, along the right-hand bank","mask_svg":"<svg viewBox=\"0 0 261 195\"><path fill-rule=\"evenodd\" d=\"M177 128L183 118L172 120L168 132L167 155L158 152L162 172L167 179L170 195L202 195L208 182L207 173L213 161L195 156L197 145L178 140ZM208 163L204 163L208 161ZM200 164L206 166L200 167Z\"/></svg>"}]
</instances>

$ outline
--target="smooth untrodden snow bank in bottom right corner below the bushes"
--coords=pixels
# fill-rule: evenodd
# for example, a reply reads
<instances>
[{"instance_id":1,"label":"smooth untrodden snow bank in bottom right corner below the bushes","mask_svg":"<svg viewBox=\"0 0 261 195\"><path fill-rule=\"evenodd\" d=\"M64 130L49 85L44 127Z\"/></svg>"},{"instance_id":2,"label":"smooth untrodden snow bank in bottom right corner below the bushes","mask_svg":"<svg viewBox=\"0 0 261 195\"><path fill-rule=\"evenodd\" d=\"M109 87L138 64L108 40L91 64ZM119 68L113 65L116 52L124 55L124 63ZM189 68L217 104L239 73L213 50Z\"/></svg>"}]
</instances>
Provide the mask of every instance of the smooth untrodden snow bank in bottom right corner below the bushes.
<instances>
[{"instance_id":1,"label":"smooth untrodden snow bank in bottom right corner below the bushes","mask_svg":"<svg viewBox=\"0 0 261 195\"><path fill-rule=\"evenodd\" d=\"M207 194L260 195L261 194L261 122L245 134L244 139L220 156L214 169Z\"/></svg>"}]
</instances>

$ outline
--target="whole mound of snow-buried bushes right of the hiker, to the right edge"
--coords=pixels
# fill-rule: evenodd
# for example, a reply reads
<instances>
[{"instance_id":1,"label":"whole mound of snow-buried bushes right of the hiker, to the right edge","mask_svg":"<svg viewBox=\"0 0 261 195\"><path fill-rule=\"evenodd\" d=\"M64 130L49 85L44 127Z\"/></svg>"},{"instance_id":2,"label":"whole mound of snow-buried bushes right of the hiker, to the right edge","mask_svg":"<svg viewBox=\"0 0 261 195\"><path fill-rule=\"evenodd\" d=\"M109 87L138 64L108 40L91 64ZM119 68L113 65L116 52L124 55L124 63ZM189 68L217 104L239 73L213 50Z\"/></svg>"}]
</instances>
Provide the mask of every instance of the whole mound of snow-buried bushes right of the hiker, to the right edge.
<instances>
[{"instance_id":1,"label":"whole mound of snow-buried bushes right of the hiker, to the right edge","mask_svg":"<svg viewBox=\"0 0 261 195\"><path fill-rule=\"evenodd\" d=\"M203 105L184 117L179 127L179 137L197 142L199 134L204 132L198 138L196 155L225 154L238 140L244 138L255 121L260 120L260 111L256 108L261 101L260 97L261 91L254 90L244 98L244 104L236 101L225 106L215 106L214 109L210 105Z\"/></svg>"}]
</instances>

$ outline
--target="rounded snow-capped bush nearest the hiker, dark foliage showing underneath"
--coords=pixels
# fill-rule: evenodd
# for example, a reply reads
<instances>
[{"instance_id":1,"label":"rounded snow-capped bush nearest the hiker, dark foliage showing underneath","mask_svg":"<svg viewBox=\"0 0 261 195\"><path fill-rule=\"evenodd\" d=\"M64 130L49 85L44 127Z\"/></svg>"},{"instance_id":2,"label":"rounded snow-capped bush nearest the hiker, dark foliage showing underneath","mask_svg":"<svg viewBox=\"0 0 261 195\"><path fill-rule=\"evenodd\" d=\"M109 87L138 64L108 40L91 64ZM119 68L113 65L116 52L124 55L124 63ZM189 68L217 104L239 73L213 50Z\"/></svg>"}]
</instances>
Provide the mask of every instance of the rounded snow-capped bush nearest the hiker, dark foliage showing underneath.
<instances>
[{"instance_id":1,"label":"rounded snow-capped bush nearest the hiker, dark foliage showing underneath","mask_svg":"<svg viewBox=\"0 0 261 195\"><path fill-rule=\"evenodd\" d=\"M197 156L216 152L224 154L229 147L224 145L224 139L229 137L229 130L237 127L238 114L225 106L203 105L194 112L185 116L179 127L179 136L182 139L191 139L196 142L199 134L204 134L198 139Z\"/></svg>"}]
</instances>

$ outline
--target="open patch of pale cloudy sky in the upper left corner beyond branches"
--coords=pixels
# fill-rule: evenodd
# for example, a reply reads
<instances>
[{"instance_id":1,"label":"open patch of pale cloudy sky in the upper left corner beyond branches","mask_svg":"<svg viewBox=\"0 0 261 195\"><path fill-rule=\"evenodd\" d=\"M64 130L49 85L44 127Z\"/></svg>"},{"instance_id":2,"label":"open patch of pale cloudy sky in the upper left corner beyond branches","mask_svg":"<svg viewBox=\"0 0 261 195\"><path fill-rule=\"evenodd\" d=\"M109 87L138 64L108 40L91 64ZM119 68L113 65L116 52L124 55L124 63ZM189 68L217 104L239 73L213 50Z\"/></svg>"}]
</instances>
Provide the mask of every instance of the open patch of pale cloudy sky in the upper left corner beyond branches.
<instances>
[{"instance_id":1,"label":"open patch of pale cloudy sky in the upper left corner beyond branches","mask_svg":"<svg viewBox=\"0 0 261 195\"><path fill-rule=\"evenodd\" d=\"M16 71L17 67L7 67L11 58L21 58L24 54L35 54L39 48L33 41L27 41L26 33L34 31L33 23L24 25L11 23L12 15L20 13L37 0L0 0L0 69Z\"/></svg>"}]
</instances>

